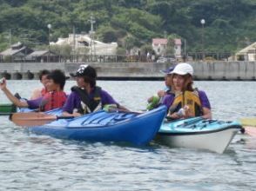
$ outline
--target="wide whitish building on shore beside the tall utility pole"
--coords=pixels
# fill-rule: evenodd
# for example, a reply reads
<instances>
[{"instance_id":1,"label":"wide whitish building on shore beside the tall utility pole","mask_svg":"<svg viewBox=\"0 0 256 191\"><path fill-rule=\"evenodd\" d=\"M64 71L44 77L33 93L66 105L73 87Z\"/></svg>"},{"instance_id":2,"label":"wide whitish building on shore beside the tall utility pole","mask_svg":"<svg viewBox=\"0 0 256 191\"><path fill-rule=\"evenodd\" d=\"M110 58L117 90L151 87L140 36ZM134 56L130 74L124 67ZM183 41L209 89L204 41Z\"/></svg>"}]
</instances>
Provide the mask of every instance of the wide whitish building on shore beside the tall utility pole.
<instances>
[{"instance_id":1,"label":"wide whitish building on shore beside the tall utility pole","mask_svg":"<svg viewBox=\"0 0 256 191\"><path fill-rule=\"evenodd\" d=\"M89 55L116 55L118 43L102 43L97 40L92 40L89 35L70 34L67 38L58 38L56 43L51 45L68 44L78 54L87 53ZM84 50L87 49L87 52Z\"/></svg>"}]
</instances>

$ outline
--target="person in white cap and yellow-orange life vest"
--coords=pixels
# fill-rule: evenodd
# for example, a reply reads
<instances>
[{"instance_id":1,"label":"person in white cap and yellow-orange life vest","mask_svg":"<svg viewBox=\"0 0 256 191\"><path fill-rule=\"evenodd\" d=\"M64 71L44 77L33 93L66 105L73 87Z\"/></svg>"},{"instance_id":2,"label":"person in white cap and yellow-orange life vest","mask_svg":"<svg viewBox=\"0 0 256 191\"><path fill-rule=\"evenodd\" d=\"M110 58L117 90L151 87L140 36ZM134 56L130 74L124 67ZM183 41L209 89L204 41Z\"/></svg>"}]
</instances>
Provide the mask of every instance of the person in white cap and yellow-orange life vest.
<instances>
[{"instance_id":1,"label":"person in white cap and yellow-orange life vest","mask_svg":"<svg viewBox=\"0 0 256 191\"><path fill-rule=\"evenodd\" d=\"M172 119L202 116L212 118L211 105L204 91L192 88L193 68L189 63L179 63L172 72L172 91L165 95L163 104Z\"/></svg>"}]
</instances>

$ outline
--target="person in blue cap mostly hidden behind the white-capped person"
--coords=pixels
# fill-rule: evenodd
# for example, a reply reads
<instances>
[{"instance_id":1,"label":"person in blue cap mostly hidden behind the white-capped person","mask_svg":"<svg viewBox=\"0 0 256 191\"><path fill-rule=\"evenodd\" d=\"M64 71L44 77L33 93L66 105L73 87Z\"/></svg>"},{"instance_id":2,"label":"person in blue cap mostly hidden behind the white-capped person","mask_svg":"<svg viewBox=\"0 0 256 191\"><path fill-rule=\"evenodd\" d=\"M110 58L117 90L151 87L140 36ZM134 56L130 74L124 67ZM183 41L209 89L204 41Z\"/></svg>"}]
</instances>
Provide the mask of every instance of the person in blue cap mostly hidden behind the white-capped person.
<instances>
[{"instance_id":1,"label":"person in blue cap mostly hidden behind the white-capped person","mask_svg":"<svg viewBox=\"0 0 256 191\"><path fill-rule=\"evenodd\" d=\"M158 94L157 95L152 95L150 98L147 99L147 110L152 110L155 108L158 108L159 102L161 102L161 100L163 99L163 97L165 95L167 95L170 91L171 91L171 74L169 74L170 72L172 72L172 70L174 69L175 66L171 66L169 69L164 69L161 70L161 73L165 74L165 89L162 90L158 90Z\"/></svg>"}]
</instances>

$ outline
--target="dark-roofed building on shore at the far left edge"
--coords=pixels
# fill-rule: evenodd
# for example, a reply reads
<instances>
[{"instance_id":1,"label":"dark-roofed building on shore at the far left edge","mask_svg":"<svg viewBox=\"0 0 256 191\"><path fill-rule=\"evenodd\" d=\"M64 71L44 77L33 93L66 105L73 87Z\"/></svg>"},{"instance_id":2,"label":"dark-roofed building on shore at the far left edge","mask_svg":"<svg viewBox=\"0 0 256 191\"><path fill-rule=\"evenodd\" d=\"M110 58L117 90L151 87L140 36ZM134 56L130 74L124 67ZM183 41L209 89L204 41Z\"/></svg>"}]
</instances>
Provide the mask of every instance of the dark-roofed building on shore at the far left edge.
<instances>
[{"instance_id":1,"label":"dark-roofed building on shore at the far left edge","mask_svg":"<svg viewBox=\"0 0 256 191\"><path fill-rule=\"evenodd\" d=\"M33 52L32 49L24 46L23 43L13 44L10 49L5 49L0 53L1 61L6 62L23 62L25 56Z\"/></svg>"}]
</instances>

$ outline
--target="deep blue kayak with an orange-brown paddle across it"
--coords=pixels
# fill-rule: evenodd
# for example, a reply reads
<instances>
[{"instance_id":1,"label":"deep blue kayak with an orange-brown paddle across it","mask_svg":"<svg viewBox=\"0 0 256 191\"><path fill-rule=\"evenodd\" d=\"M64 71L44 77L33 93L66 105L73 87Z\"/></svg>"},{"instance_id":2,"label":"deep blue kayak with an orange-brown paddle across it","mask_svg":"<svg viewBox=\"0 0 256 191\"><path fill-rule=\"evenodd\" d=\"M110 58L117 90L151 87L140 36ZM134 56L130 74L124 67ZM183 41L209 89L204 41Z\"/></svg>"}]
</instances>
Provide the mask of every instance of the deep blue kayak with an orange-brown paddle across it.
<instances>
[{"instance_id":1,"label":"deep blue kayak with an orange-brown paddle across it","mask_svg":"<svg viewBox=\"0 0 256 191\"><path fill-rule=\"evenodd\" d=\"M48 114L60 115L56 109ZM30 127L32 133L51 135L61 139L89 142L131 142L143 145L158 133L166 107L152 109L143 114L132 112L98 112L69 120L57 120L43 126Z\"/></svg>"}]
</instances>

